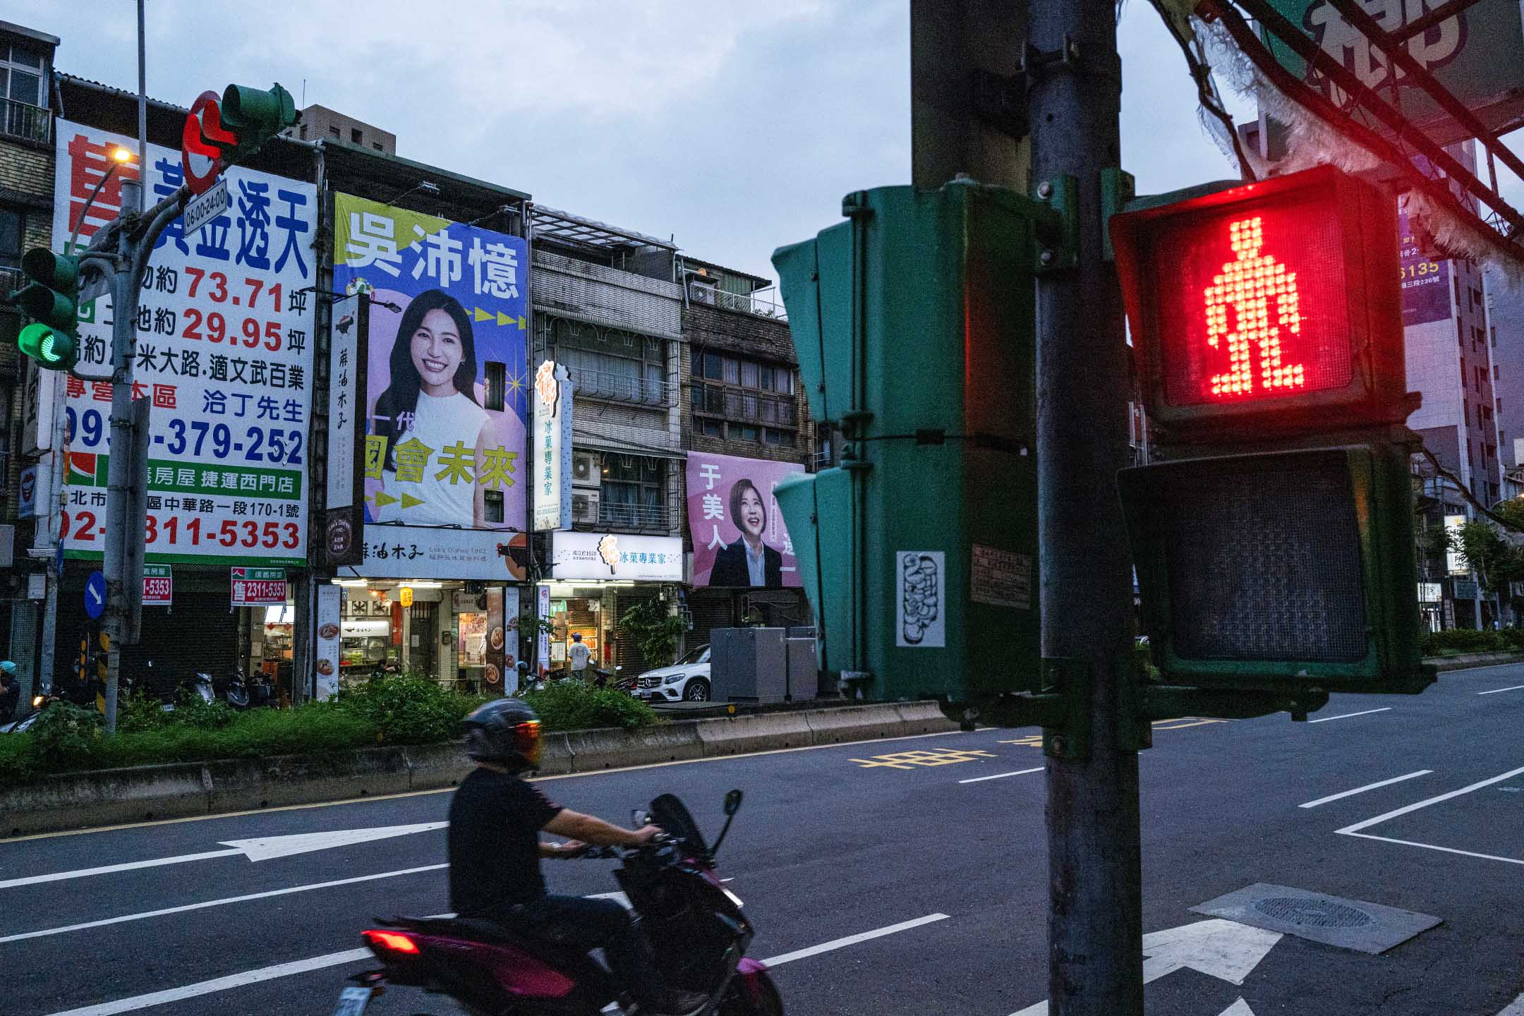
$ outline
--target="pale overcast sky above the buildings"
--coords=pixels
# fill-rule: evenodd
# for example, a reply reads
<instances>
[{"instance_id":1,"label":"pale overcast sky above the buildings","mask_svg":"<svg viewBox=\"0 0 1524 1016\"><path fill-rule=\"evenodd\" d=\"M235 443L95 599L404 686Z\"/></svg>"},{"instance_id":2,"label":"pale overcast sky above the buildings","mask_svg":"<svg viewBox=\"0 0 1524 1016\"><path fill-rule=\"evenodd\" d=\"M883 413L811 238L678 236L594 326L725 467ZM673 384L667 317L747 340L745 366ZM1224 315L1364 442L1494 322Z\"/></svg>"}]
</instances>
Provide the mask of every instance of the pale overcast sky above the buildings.
<instances>
[{"instance_id":1,"label":"pale overcast sky above the buildings","mask_svg":"<svg viewBox=\"0 0 1524 1016\"><path fill-rule=\"evenodd\" d=\"M137 82L131 0L30 0L56 65ZM841 195L910 180L905 0L148 2L148 93L279 81L398 154L773 277ZM1148 3L1120 26L1122 161L1143 193L1236 175ZM1247 107L1237 107L1245 114Z\"/></svg>"}]
</instances>

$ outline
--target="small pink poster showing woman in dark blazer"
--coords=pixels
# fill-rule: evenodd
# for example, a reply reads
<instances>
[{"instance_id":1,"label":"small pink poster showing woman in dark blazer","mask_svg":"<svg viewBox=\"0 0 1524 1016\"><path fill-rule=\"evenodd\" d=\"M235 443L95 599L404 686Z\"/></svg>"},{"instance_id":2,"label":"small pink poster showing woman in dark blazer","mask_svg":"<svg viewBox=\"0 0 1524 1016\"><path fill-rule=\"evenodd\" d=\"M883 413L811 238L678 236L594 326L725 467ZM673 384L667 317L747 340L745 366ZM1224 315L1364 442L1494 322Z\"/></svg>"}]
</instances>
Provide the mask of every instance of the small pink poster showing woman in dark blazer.
<instances>
[{"instance_id":1,"label":"small pink poster showing woman in dark blazer","mask_svg":"<svg viewBox=\"0 0 1524 1016\"><path fill-rule=\"evenodd\" d=\"M794 544L773 487L805 472L796 462L687 454L687 524L693 585L799 586Z\"/></svg>"}]
</instances>

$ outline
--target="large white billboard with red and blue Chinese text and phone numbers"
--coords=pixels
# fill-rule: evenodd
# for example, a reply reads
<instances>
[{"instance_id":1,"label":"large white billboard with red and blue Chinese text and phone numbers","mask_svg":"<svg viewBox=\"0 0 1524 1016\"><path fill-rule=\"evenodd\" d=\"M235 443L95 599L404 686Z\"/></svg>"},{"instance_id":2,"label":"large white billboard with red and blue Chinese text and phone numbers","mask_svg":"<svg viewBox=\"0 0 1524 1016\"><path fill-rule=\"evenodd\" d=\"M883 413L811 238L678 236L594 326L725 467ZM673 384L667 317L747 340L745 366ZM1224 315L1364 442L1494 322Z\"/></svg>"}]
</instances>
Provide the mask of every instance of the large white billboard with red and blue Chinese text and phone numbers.
<instances>
[{"instance_id":1,"label":"large white billboard with red and blue Chinese text and phone numbers","mask_svg":"<svg viewBox=\"0 0 1524 1016\"><path fill-rule=\"evenodd\" d=\"M122 136L59 120L53 242L69 241ZM149 145L152 203L183 181L180 154ZM116 218L122 168L79 224L81 244ZM134 395L152 401L145 559L155 564L306 564L309 382L317 189L227 171L232 207L195 233L180 219L158 239L137 312ZM69 558L98 559L107 515L111 300L84 306L82 378L67 387L70 443L62 516ZM90 379L98 378L98 379ZM49 387L40 399L52 399Z\"/></svg>"}]
</instances>

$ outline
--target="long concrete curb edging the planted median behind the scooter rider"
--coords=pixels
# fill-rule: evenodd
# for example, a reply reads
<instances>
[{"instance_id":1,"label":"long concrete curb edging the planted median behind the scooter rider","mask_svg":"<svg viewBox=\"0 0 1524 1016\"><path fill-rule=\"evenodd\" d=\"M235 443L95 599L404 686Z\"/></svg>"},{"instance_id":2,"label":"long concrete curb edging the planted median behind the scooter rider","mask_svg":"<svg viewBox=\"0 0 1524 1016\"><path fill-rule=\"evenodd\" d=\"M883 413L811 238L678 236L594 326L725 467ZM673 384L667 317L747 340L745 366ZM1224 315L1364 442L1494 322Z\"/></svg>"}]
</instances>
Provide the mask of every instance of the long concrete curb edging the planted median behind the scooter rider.
<instances>
[{"instance_id":1,"label":"long concrete curb edging the planted median behind the scooter rider","mask_svg":"<svg viewBox=\"0 0 1524 1016\"><path fill-rule=\"evenodd\" d=\"M690 719L643 730L546 734L541 775L840 745L957 730L936 702ZM328 756L221 759L98 769L0 788L0 839L168 818L320 804L456 786L471 771L459 745L363 748Z\"/></svg>"}]
</instances>

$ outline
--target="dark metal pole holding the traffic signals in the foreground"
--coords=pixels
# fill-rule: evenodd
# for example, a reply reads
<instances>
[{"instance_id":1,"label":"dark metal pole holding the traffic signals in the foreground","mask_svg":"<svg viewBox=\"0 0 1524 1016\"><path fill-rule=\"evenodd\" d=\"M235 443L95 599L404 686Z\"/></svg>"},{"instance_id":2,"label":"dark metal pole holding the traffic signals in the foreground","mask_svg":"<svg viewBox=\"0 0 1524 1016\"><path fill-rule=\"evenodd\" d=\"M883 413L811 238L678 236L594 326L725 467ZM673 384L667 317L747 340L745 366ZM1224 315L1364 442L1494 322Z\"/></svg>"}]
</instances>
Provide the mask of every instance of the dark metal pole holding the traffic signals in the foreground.
<instances>
[{"instance_id":1,"label":"dark metal pole holding the traffic signals in the foreground","mask_svg":"<svg viewBox=\"0 0 1524 1016\"><path fill-rule=\"evenodd\" d=\"M1131 364L1102 247L1102 172L1122 158L1116 6L1033 0L1030 20L1032 180L1039 196L1079 183L1079 265L1038 279L1042 655L1090 690L1088 757L1047 760L1049 1011L1141 1016L1138 760L1119 720L1135 714L1122 701L1132 573L1116 487Z\"/></svg>"}]
</instances>

